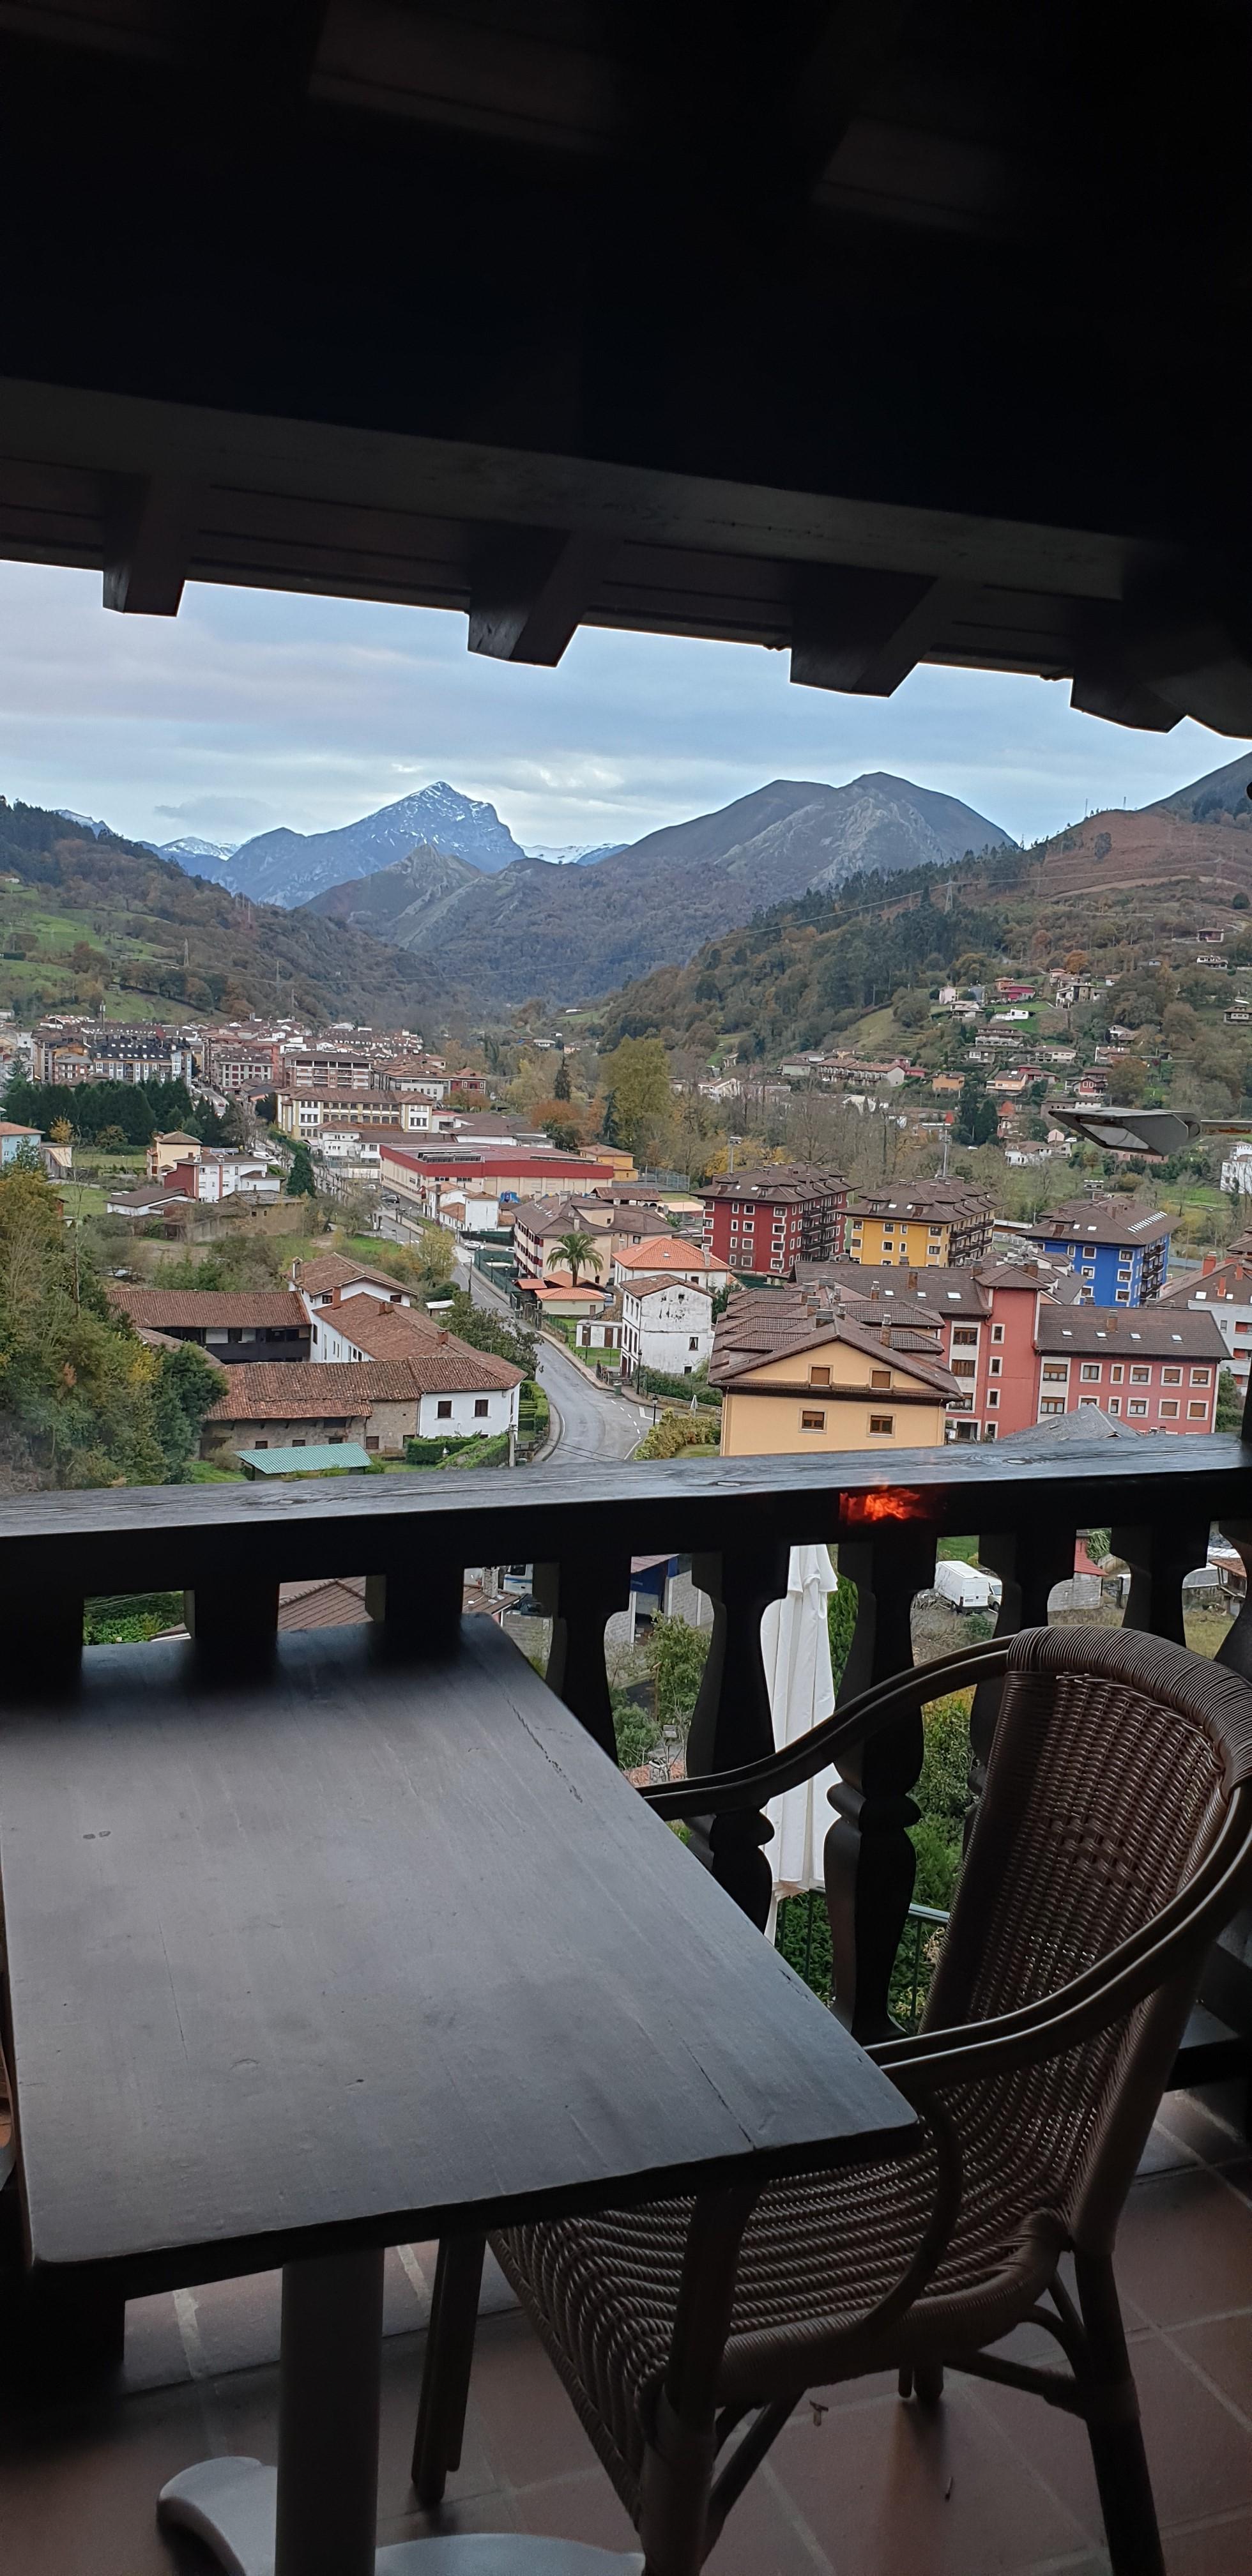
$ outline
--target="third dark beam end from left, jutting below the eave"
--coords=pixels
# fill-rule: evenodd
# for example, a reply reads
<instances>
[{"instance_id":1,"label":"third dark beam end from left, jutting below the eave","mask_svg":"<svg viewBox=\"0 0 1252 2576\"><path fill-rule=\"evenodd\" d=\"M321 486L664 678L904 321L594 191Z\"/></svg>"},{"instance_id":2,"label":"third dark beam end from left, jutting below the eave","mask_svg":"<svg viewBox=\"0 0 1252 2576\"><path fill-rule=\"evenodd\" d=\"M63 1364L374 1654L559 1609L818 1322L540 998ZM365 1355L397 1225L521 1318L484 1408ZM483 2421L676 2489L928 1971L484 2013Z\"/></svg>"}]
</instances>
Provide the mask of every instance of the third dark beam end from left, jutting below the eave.
<instances>
[{"instance_id":1,"label":"third dark beam end from left, jutting below the eave","mask_svg":"<svg viewBox=\"0 0 1252 2576\"><path fill-rule=\"evenodd\" d=\"M791 611L791 677L889 698L966 603L963 582L925 572L806 564Z\"/></svg>"}]
</instances>

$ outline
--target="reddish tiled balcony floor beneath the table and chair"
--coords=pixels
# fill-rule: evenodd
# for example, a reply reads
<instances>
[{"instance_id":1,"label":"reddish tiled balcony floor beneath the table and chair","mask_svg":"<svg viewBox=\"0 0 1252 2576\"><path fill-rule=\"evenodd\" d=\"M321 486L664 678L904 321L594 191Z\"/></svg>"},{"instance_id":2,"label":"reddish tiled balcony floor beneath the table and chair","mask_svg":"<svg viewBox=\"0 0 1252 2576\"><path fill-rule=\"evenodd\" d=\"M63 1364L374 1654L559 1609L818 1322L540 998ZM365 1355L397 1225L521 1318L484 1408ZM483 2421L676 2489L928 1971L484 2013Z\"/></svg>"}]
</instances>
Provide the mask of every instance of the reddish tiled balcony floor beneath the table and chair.
<instances>
[{"instance_id":1,"label":"reddish tiled balcony floor beneath the table and chair","mask_svg":"<svg viewBox=\"0 0 1252 2576\"><path fill-rule=\"evenodd\" d=\"M1234 2105L1231 2105L1234 2107ZM1252 2159L1221 2097L1172 2097L1118 2259L1170 2576L1252 2571ZM415 2537L407 2460L430 2249L386 2262L379 2537ZM441 2527L629 2548L564 2393L500 2282L479 2329L464 2465ZM204 2576L155 2530L162 2478L206 2452L273 2458L278 2282L224 2282L129 2311L126 2393L10 2421L0 2566L13 2576ZM884 2380L804 2403L714 2550L711 2576L1100 2576L1079 2424L948 2380L938 2416Z\"/></svg>"}]
</instances>

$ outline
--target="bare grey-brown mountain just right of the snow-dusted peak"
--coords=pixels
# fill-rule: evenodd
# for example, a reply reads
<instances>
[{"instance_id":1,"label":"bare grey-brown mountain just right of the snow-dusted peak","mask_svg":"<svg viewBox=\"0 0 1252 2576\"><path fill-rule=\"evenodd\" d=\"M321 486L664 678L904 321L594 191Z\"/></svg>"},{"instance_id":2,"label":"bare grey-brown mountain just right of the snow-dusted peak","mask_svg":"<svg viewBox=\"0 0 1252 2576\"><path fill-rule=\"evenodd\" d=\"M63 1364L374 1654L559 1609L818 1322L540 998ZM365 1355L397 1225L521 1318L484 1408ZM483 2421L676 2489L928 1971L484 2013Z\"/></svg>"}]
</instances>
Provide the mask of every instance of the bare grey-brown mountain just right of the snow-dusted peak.
<instances>
[{"instance_id":1,"label":"bare grey-brown mountain just right of the snow-dusted peak","mask_svg":"<svg viewBox=\"0 0 1252 2576\"><path fill-rule=\"evenodd\" d=\"M489 1002L595 997L814 886L948 866L1005 840L987 814L907 778L871 773L840 788L775 778L587 868L520 858L484 878L461 855L417 848L309 909L438 961L448 984Z\"/></svg>"}]
</instances>

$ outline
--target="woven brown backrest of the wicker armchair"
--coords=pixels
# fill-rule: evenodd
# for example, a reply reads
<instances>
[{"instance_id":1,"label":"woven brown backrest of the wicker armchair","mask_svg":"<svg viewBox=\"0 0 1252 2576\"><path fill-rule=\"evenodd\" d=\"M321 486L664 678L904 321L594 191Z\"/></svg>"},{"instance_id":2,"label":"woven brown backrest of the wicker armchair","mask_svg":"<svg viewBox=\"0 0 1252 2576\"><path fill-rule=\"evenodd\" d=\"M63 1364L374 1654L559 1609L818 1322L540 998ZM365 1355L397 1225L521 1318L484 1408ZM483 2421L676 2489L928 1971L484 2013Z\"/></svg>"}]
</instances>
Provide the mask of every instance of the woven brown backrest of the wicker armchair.
<instances>
[{"instance_id":1,"label":"woven brown backrest of the wicker armchair","mask_svg":"<svg viewBox=\"0 0 1252 2576\"><path fill-rule=\"evenodd\" d=\"M1159 1638L1012 1641L987 1788L925 2030L1056 1994L1141 1932L1213 1844L1252 1770L1252 1690ZM1110 2244L1193 2002L1198 1960L1064 2056L976 2079L953 2105L966 2164L1018 2141L1038 2197Z\"/></svg>"}]
</instances>

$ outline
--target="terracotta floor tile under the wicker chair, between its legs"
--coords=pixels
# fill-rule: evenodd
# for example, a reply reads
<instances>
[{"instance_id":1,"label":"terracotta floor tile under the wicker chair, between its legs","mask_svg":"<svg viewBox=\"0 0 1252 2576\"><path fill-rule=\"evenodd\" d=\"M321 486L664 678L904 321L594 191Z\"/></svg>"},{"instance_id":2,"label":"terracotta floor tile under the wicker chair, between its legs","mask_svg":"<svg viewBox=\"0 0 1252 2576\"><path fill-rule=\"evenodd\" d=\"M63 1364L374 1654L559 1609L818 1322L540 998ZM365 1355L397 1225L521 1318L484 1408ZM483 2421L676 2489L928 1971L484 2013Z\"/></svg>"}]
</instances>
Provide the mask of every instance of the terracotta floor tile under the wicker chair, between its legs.
<instances>
[{"instance_id":1,"label":"terracotta floor tile under the wicker chair, between its legs","mask_svg":"<svg viewBox=\"0 0 1252 2576\"><path fill-rule=\"evenodd\" d=\"M938 2414L878 2398L819 2427L796 2421L770 2465L840 2576L1018 2576L1090 2550L958 2388Z\"/></svg>"}]
</instances>

